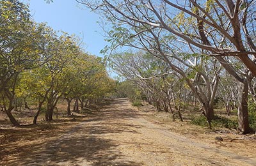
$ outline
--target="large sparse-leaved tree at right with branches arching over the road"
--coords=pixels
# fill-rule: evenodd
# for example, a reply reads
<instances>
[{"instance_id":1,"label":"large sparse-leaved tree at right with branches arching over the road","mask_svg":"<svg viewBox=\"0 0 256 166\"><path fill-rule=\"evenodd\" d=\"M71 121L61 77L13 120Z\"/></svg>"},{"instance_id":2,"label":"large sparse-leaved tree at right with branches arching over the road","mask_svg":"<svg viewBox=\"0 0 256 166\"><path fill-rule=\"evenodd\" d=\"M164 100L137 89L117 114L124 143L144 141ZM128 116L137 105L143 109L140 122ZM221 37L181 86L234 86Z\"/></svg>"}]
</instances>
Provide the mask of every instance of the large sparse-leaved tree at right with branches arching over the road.
<instances>
[{"instance_id":1,"label":"large sparse-leaved tree at right with branches arching over the road","mask_svg":"<svg viewBox=\"0 0 256 166\"><path fill-rule=\"evenodd\" d=\"M170 34L173 34L176 41L188 44L191 50L218 59L227 72L239 82L239 129L243 133L250 131L246 78L256 75L256 64L253 60L256 55L253 43L255 20L251 17L253 14L250 14L255 13L255 1L79 2L101 12L104 18L112 23L113 31L108 34L113 48L129 45L159 52L159 43L163 42L158 40L159 34L162 33L166 38L172 37ZM149 34L154 38L148 38ZM134 41L134 38L138 40ZM141 42L145 40L148 42ZM156 45L148 47L152 40L156 41ZM248 72L245 72L248 76L244 77L244 72L241 75L230 59L241 61L248 68Z\"/></svg>"}]
</instances>

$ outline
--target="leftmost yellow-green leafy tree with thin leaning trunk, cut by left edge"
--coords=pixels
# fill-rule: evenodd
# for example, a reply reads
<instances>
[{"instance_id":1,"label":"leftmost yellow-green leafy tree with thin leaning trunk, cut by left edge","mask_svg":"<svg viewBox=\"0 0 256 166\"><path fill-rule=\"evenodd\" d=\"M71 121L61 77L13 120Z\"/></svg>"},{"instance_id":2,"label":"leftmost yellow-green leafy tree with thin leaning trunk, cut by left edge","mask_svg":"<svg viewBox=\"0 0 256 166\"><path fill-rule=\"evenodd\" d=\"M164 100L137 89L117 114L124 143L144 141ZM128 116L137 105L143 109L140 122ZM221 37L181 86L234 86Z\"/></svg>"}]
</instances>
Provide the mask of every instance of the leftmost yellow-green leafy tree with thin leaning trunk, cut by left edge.
<instances>
[{"instance_id":1,"label":"leftmost yellow-green leafy tree with thin leaning trunk, cut by left edge","mask_svg":"<svg viewBox=\"0 0 256 166\"><path fill-rule=\"evenodd\" d=\"M6 114L15 126L19 123L12 116L15 87L20 73L44 63L44 24L31 21L28 6L16 0L0 2L0 93L7 106Z\"/></svg>"}]
</instances>

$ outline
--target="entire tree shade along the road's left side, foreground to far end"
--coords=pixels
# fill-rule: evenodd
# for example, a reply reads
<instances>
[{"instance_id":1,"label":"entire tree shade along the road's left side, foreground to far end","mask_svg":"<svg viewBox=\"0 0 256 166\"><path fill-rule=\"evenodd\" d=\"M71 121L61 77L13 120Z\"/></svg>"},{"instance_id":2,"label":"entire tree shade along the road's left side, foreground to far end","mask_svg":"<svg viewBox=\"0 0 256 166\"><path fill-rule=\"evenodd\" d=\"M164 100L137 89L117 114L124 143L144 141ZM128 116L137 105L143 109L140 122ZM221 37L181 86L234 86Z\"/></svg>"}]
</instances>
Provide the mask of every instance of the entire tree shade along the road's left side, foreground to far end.
<instances>
[{"instance_id":1,"label":"entire tree shade along the road's left side, foreground to far end","mask_svg":"<svg viewBox=\"0 0 256 166\"><path fill-rule=\"evenodd\" d=\"M124 154L115 147L118 142L105 139L102 134L138 133L131 128L140 126L125 124L120 119L137 118L141 115L127 109L126 99L115 100L100 110L97 117L79 123L58 140L31 147L29 154L20 152L19 160L12 165L142 165L124 160Z\"/></svg>"}]
</instances>

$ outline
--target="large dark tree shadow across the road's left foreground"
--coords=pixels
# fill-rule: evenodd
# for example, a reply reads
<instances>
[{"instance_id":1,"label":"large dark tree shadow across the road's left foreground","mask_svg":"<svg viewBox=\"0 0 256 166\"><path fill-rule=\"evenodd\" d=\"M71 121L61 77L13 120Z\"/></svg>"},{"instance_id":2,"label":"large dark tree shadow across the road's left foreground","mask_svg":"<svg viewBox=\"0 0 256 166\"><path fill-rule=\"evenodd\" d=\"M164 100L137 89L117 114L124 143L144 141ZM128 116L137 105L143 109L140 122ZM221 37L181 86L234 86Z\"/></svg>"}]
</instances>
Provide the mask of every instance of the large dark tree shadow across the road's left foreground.
<instances>
[{"instance_id":1,"label":"large dark tree shadow across the road's left foreground","mask_svg":"<svg viewBox=\"0 0 256 166\"><path fill-rule=\"evenodd\" d=\"M10 162L10 165L141 165L122 160L124 155L115 150L118 146L115 141L92 134L106 131L99 128L94 132L91 130L77 126L61 139L46 146L38 144L31 148L29 154L20 153L19 160Z\"/></svg>"}]
</instances>

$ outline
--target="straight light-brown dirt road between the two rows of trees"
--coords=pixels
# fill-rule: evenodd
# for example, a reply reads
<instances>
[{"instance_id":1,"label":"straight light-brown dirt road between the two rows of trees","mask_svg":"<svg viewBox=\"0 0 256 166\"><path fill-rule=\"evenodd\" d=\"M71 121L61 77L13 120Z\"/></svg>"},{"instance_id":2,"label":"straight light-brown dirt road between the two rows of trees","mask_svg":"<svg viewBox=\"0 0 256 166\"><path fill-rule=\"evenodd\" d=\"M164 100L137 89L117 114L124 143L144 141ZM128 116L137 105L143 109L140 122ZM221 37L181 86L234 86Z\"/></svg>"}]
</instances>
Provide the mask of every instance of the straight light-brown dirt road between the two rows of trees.
<instances>
[{"instance_id":1,"label":"straight light-brown dirt road between the two rows of trees","mask_svg":"<svg viewBox=\"0 0 256 166\"><path fill-rule=\"evenodd\" d=\"M31 149L13 165L256 165L214 143L189 139L115 100L45 147Z\"/></svg>"}]
</instances>

